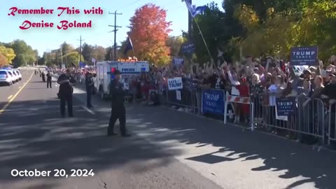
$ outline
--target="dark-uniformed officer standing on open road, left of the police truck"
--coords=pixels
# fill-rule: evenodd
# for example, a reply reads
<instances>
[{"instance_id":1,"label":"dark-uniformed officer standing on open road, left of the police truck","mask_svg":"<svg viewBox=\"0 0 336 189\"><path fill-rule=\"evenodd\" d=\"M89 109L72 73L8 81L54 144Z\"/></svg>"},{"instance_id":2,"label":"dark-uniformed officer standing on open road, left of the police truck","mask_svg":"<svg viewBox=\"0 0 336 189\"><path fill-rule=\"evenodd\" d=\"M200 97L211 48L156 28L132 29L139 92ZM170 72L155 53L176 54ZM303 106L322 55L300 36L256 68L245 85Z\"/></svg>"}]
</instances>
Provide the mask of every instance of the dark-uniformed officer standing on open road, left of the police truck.
<instances>
[{"instance_id":1,"label":"dark-uniformed officer standing on open road, left of the police truck","mask_svg":"<svg viewBox=\"0 0 336 189\"><path fill-rule=\"evenodd\" d=\"M57 83L59 84L59 99L61 100L60 102L60 111L61 111L61 116L64 118L65 116L65 102L67 102L68 106L68 114L69 117L73 117L73 112L72 112L72 93L73 93L73 83L76 81L70 74L70 69L66 69L66 73L63 73L62 75L59 76Z\"/></svg>"}]
</instances>

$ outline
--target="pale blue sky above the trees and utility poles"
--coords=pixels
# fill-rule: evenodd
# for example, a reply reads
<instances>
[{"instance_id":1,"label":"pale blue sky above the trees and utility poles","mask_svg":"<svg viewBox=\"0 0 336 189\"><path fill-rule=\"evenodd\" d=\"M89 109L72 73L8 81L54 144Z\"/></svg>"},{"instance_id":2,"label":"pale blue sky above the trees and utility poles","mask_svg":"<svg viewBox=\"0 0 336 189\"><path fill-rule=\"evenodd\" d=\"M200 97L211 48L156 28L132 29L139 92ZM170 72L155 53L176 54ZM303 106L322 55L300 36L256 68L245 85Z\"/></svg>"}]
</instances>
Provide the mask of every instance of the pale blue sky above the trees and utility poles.
<instances>
[{"instance_id":1,"label":"pale blue sky above the trees and utility poles","mask_svg":"<svg viewBox=\"0 0 336 189\"><path fill-rule=\"evenodd\" d=\"M215 1L221 7L221 0L193 0L193 4L196 6L202 6L204 4ZM118 15L117 25L122 26L117 33L117 41L123 41L125 39L127 28L130 25L130 18L134 15L134 11L143 6L146 3L155 3L155 5L165 8L167 10L167 20L172 21L173 29L171 35L181 35L181 30L188 29L188 12L186 4L181 0L11 0L3 1L0 6L1 19L0 23L3 29L0 30L0 41L10 42L15 39L23 39L32 48L37 49L39 54L42 55L44 51L50 51L52 49L59 48L59 45L66 41L74 45L79 46L78 39L82 36L83 43L89 43L91 45L102 45L108 47L113 45L113 33L108 33L113 30L108 25L114 25L114 15L109 15L110 12L118 10L123 15ZM79 15L61 15L57 16L59 6L69 6L80 9ZM8 15L10 8L18 7L19 9L39 9L41 7L45 9L54 9L52 15ZM84 15L83 9L99 8L104 10L103 15ZM25 20L30 22L53 22L53 28L30 28L26 30L20 29L20 25ZM61 20L78 20L78 22L88 22L92 20L92 28L71 28L67 30L57 29L57 25Z\"/></svg>"}]
</instances>

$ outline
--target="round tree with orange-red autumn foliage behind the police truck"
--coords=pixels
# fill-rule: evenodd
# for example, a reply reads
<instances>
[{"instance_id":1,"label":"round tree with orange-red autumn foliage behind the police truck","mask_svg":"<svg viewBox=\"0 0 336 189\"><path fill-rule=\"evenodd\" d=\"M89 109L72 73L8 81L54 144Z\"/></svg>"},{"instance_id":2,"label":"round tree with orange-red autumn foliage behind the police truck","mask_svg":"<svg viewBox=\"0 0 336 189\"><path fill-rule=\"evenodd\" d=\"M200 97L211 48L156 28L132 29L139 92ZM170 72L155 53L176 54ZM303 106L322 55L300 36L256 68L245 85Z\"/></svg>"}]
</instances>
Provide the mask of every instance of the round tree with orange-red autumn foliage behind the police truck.
<instances>
[{"instance_id":1,"label":"round tree with orange-red autumn foliage behind the police truck","mask_svg":"<svg viewBox=\"0 0 336 189\"><path fill-rule=\"evenodd\" d=\"M130 19L128 36L132 39L135 55L157 65L170 62L169 47L166 44L172 22L167 22L166 10L148 3L135 10ZM132 50L130 50L132 55Z\"/></svg>"}]
</instances>

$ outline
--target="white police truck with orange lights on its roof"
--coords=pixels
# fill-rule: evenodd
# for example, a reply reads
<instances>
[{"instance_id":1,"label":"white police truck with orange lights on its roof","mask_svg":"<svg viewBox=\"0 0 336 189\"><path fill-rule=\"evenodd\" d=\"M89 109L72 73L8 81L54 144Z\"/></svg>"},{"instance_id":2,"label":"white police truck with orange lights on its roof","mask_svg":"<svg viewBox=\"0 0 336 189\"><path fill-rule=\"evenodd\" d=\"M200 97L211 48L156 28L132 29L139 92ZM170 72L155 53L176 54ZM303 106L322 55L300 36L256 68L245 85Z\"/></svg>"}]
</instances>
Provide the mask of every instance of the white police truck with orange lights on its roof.
<instances>
[{"instance_id":1,"label":"white police truck with orange lights on its roof","mask_svg":"<svg viewBox=\"0 0 336 189\"><path fill-rule=\"evenodd\" d=\"M147 61L136 61L132 59L120 59L118 61L97 62L96 64L96 81L95 86L102 99L106 99L110 95L110 83L114 78L113 72L116 70L121 72L122 82L139 76L142 72L149 71L149 63ZM128 83L127 83L128 84Z\"/></svg>"}]
</instances>

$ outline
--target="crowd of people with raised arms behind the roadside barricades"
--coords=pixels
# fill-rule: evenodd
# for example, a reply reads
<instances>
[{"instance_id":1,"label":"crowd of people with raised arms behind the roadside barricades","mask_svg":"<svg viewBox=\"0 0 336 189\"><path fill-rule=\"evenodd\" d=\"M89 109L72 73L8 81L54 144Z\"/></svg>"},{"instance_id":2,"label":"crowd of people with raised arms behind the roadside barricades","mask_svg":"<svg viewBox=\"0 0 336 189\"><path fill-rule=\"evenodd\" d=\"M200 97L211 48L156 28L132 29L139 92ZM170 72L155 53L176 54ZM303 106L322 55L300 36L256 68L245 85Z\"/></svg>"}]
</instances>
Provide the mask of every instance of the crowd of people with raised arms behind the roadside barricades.
<instances>
[{"instance_id":1,"label":"crowd of people with raised arms behind the roadside barricades","mask_svg":"<svg viewBox=\"0 0 336 189\"><path fill-rule=\"evenodd\" d=\"M56 71L64 70L57 69ZM185 99L185 102L178 105L179 110L202 114L202 89L224 90L230 95L250 97L251 102L254 103L255 123L266 125L265 129L269 132L282 134L281 127L285 127L290 131L321 135L323 131L328 134L328 125L332 126L332 131L335 130L335 72L335 56L330 57L329 62L325 64L316 60L316 66L291 66L285 59L273 59L272 57L260 59L246 57L242 62L227 63L220 59L217 64L209 62L204 66L193 64L188 69L183 66L153 66L149 73L127 78L127 82L130 83L128 93L132 99L146 104L160 104L169 99L167 97L169 96L168 78L181 77L183 78L181 93L187 95L182 95L185 96L182 97L182 101ZM79 83L83 83L89 73L94 80L96 73L94 68L72 70L72 75ZM193 83L193 87L190 87L190 82ZM188 98L193 95L195 100L190 102ZM276 97L301 96L304 98L301 99L298 109L304 111L298 111L299 113L284 120L277 118ZM321 103L316 103L315 99L319 99L318 102ZM189 105L195 108L190 109ZM88 104L88 106L92 105ZM225 111L232 112L233 115L230 118L233 123L251 123L252 110L248 104L234 103L229 110ZM328 113L328 111L333 113ZM303 116L304 113L307 115ZM300 125L297 125L297 120L300 119L302 121ZM323 125L322 120L324 120ZM289 132L289 134L286 132L286 136L300 141L304 140L298 132ZM318 140L318 143L321 143L321 140Z\"/></svg>"}]
</instances>

